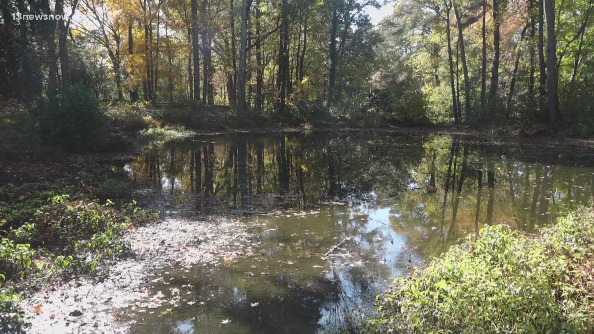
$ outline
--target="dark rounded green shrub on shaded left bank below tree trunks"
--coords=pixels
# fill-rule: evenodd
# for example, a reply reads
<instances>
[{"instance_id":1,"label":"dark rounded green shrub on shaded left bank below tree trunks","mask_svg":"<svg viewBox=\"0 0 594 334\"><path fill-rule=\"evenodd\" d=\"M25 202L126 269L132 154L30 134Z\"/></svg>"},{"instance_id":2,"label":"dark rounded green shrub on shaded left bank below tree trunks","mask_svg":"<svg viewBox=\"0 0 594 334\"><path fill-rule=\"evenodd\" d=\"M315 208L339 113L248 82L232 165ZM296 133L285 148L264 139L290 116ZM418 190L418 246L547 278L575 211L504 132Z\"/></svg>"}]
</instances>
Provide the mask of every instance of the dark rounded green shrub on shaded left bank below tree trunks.
<instances>
[{"instance_id":1,"label":"dark rounded green shrub on shaded left bank below tree trunks","mask_svg":"<svg viewBox=\"0 0 594 334\"><path fill-rule=\"evenodd\" d=\"M85 87L70 87L52 100L40 97L29 115L43 142L68 150L86 150L106 138L107 117Z\"/></svg>"}]
</instances>

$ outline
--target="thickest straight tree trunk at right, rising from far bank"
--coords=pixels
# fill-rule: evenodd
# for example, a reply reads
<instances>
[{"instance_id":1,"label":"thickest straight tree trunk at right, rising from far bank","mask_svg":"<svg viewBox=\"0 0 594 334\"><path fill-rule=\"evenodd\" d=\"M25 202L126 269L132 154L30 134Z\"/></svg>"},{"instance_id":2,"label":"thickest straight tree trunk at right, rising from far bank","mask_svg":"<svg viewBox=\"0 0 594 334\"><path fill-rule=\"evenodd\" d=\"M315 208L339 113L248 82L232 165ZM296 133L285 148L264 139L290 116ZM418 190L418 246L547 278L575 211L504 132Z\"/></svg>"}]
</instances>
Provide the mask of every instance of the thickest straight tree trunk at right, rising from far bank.
<instances>
[{"instance_id":1,"label":"thickest straight tree trunk at right, rising from far bank","mask_svg":"<svg viewBox=\"0 0 594 334\"><path fill-rule=\"evenodd\" d=\"M549 99L549 120L561 121L559 96L557 93L557 44L555 41L555 8L552 0L544 0L546 8L546 89Z\"/></svg>"}]
</instances>

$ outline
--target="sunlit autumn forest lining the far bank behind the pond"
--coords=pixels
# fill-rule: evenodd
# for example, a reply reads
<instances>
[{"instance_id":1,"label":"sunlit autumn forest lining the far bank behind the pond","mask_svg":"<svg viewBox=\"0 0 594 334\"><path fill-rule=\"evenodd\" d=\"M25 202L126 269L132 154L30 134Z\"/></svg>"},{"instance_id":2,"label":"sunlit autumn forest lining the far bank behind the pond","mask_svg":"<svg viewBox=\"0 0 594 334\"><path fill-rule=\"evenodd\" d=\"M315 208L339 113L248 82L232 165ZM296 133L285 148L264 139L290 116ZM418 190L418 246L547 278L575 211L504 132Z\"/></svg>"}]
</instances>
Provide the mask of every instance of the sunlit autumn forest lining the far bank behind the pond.
<instances>
[{"instance_id":1,"label":"sunlit autumn forest lining the far bank behind the pond","mask_svg":"<svg viewBox=\"0 0 594 334\"><path fill-rule=\"evenodd\" d=\"M592 1L2 2L0 96L587 128ZM393 12L377 25L369 8ZM18 20L34 15L64 20ZM52 17L50 17L52 18ZM206 109L205 109L206 108Z\"/></svg>"}]
</instances>

